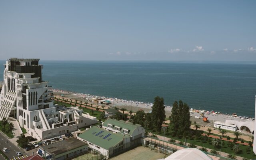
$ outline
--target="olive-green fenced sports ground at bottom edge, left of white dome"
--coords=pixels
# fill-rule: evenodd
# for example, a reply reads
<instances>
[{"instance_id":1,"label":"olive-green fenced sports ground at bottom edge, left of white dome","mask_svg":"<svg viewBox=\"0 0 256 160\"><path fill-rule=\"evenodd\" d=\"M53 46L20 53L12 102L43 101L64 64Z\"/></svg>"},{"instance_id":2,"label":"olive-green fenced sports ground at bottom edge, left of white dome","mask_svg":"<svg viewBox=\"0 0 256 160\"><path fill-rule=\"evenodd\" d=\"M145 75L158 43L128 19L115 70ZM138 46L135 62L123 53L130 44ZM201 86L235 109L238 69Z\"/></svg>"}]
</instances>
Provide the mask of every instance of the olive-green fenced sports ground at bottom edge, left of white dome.
<instances>
[{"instance_id":1,"label":"olive-green fenced sports ground at bottom edge, left of white dome","mask_svg":"<svg viewBox=\"0 0 256 160\"><path fill-rule=\"evenodd\" d=\"M140 146L123 154L119 154L118 156L112 157L110 160L157 160L167 156L163 153L158 153L156 150L150 150L150 148Z\"/></svg>"}]
</instances>

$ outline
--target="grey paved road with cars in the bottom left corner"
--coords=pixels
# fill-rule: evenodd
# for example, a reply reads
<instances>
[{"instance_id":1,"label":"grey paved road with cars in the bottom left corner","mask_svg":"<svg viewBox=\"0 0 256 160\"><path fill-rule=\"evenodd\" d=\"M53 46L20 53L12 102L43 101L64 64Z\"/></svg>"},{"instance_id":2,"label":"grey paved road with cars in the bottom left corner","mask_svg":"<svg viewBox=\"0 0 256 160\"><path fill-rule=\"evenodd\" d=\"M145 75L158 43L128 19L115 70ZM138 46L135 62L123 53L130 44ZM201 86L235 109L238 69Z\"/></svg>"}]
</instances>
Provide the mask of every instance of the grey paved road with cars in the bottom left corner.
<instances>
[{"instance_id":1,"label":"grey paved road with cars in the bottom left corner","mask_svg":"<svg viewBox=\"0 0 256 160\"><path fill-rule=\"evenodd\" d=\"M2 150L3 148L8 148L10 150L9 153L4 153L10 160L20 160L22 158L28 157L28 154L26 154L24 150L20 150L0 133L0 149ZM23 156L18 157L16 152L21 152ZM0 156L0 159L2 160L3 157Z\"/></svg>"}]
</instances>

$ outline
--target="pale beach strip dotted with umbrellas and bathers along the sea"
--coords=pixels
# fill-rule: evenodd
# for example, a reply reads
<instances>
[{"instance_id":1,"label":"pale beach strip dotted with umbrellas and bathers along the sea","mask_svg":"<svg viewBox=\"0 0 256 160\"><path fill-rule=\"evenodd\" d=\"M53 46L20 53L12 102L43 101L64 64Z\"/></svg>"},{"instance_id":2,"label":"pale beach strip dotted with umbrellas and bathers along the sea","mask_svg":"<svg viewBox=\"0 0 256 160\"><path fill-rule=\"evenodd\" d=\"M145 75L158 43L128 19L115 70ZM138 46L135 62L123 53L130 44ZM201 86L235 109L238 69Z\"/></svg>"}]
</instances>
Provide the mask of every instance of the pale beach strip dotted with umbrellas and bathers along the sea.
<instances>
[{"instance_id":1,"label":"pale beach strip dotted with umbrellas and bathers along the sea","mask_svg":"<svg viewBox=\"0 0 256 160\"><path fill-rule=\"evenodd\" d=\"M105 97L105 96L95 96L95 95L90 95L90 94L83 94L83 93L75 93L75 92L70 92L70 91L66 91L66 90L58 90L55 88L52 88L52 91L55 93L54 95L63 95L63 96L67 96L68 98L74 98L74 99L78 99L78 100L83 100L83 102L85 100L91 101L93 98L98 98L98 99L103 99L103 100L109 100L111 102L110 105L106 105L106 106L116 106L116 107L124 107L127 108L127 110L131 109L131 110L139 110L139 109L143 109L146 113L149 112L150 110L152 110L152 106L153 103L145 103L145 102L139 102L139 101L132 101L132 100L123 100L123 99L119 99L119 98L111 98L111 97ZM168 118L171 115L171 110L172 110L172 106L166 106L165 105L165 111L166 111L166 118ZM246 118L243 119L245 117L242 116L231 116L229 114L223 114L218 112L218 114L212 114L212 111L206 111L206 110L196 110L192 108L190 109L190 115L191 117L193 117L192 119L197 119L195 118L195 116L200 116L201 113L204 113L204 116L208 117L208 120L210 121L220 121L220 122L225 122L226 120L237 120L237 121L248 121L248 120L252 120L252 118ZM217 113L217 112L214 112ZM201 117L202 119L202 117Z\"/></svg>"}]
</instances>

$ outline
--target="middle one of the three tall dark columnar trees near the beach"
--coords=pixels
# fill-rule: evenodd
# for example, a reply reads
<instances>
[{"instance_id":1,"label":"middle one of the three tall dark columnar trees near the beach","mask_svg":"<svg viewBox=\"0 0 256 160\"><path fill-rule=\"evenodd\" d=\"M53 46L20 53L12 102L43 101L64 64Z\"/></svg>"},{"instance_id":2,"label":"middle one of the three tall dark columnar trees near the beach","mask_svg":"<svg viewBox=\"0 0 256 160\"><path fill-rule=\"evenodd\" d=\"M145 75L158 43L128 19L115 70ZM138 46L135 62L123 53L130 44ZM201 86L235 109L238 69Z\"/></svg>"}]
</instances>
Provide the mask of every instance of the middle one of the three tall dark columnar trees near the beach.
<instances>
[{"instance_id":1,"label":"middle one of the three tall dark columnar trees near the beach","mask_svg":"<svg viewBox=\"0 0 256 160\"><path fill-rule=\"evenodd\" d=\"M176 136L176 133L179 128L179 115L178 115L178 102L177 101L175 101L172 104L172 114L169 118L170 118L170 132L173 134L173 136Z\"/></svg>"}]
</instances>

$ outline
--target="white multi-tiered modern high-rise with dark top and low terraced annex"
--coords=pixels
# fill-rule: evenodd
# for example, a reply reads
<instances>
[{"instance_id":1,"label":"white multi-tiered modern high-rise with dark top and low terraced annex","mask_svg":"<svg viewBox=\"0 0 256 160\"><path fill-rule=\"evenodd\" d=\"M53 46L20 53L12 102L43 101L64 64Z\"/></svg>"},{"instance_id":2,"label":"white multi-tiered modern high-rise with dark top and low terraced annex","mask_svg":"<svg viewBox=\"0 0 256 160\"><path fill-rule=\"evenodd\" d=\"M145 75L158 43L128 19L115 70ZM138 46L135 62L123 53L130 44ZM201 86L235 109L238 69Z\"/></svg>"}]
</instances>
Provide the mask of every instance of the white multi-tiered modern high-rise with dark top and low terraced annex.
<instances>
[{"instance_id":1,"label":"white multi-tiered modern high-rise with dark top and low terraced annex","mask_svg":"<svg viewBox=\"0 0 256 160\"><path fill-rule=\"evenodd\" d=\"M39 59L10 58L4 64L0 119L14 117L31 136L47 139L97 123L77 108L54 105L49 82L42 80Z\"/></svg>"}]
</instances>

